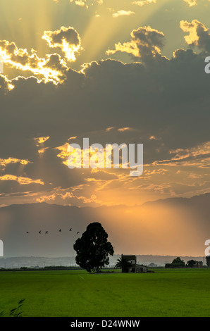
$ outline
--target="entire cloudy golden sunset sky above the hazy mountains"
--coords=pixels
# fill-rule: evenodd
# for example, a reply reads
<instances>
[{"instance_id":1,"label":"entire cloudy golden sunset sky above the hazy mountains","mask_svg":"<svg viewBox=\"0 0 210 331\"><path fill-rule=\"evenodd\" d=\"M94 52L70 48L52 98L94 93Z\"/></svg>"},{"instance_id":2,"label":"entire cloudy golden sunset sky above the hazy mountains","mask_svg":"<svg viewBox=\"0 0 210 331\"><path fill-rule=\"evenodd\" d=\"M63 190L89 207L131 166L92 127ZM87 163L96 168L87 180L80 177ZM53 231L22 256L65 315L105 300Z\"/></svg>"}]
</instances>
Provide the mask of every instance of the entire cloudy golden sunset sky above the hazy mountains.
<instances>
[{"instance_id":1,"label":"entire cloudy golden sunset sky above the hazy mountains","mask_svg":"<svg viewBox=\"0 0 210 331\"><path fill-rule=\"evenodd\" d=\"M209 12L208 0L0 0L0 207L208 193ZM143 144L142 175L69 169L84 137Z\"/></svg>"}]
</instances>

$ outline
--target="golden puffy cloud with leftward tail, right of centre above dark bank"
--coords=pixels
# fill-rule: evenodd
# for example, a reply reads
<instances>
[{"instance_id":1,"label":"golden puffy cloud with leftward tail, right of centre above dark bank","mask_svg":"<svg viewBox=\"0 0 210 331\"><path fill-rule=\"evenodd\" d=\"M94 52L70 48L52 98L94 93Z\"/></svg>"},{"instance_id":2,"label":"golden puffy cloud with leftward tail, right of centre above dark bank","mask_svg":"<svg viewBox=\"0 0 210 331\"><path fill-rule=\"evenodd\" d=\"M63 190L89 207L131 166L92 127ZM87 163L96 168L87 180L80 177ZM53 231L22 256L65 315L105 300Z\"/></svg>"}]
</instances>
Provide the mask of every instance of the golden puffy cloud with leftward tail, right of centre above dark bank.
<instances>
[{"instance_id":1,"label":"golden puffy cloud with leftward tail, right of centre above dark bank","mask_svg":"<svg viewBox=\"0 0 210 331\"><path fill-rule=\"evenodd\" d=\"M164 45L165 36L163 32L152 29L152 27L139 27L132 30L131 41L123 44L115 44L115 49L106 51L107 55L115 54L116 51L128 53L135 58L156 58L161 56L161 48Z\"/></svg>"}]
</instances>

